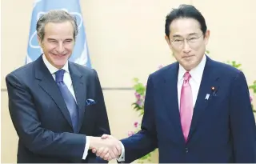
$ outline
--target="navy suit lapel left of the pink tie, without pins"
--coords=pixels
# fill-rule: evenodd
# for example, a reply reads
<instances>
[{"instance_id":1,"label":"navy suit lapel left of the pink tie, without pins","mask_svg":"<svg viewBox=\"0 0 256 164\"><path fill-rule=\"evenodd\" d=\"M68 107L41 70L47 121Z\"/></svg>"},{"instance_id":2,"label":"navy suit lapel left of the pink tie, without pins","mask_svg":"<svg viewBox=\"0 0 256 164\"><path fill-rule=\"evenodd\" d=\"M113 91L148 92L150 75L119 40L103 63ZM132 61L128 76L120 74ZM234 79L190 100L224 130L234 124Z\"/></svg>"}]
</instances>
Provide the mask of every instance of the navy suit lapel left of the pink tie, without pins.
<instances>
[{"instance_id":1,"label":"navy suit lapel left of the pink tie, without pins","mask_svg":"<svg viewBox=\"0 0 256 164\"><path fill-rule=\"evenodd\" d=\"M178 110L178 62L174 63L169 70L164 74L165 82L162 86L162 98L166 104L166 113L170 116L174 129L176 130L178 138L183 141L182 125L180 121L180 114Z\"/></svg>"}]
</instances>

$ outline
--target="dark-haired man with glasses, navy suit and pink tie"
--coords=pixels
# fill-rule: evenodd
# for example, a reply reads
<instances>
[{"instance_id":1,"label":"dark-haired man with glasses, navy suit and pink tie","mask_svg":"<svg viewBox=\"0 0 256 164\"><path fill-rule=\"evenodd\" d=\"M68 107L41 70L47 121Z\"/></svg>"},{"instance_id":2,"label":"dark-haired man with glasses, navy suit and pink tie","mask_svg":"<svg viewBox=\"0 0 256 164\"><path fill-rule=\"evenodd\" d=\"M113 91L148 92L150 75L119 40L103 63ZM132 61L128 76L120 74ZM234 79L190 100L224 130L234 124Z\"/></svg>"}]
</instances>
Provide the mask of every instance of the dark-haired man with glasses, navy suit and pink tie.
<instances>
[{"instance_id":1,"label":"dark-haired man with glasses, navy suit and pink tie","mask_svg":"<svg viewBox=\"0 0 256 164\"><path fill-rule=\"evenodd\" d=\"M246 78L205 55L209 37L194 6L182 5L167 15L166 42L178 62L150 74L142 130L122 139L122 161L158 148L160 163L256 162ZM97 155L109 154L97 150Z\"/></svg>"}]
</instances>

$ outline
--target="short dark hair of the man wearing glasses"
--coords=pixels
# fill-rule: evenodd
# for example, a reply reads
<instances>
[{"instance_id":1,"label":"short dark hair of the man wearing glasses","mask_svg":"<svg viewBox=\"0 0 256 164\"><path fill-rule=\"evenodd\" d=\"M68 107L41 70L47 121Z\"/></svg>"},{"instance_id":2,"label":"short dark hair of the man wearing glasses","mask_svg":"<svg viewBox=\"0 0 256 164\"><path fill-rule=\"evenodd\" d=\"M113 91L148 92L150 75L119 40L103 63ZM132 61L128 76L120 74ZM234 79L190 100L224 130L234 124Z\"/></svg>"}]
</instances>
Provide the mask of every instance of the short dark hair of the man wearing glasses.
<instances>
[{"instance_id":1,"label":"short dark hair of the man wearing glasses","mask_svg":"<svg viewBox=\"0 0 256 164\"><path fill-rule=\"evenodd\" d=\"M170 23L174 21L174 19L177 18L194 18L197 20L201 26L202 34L206 34L207 26L206 26L206 20L202 16L199 10L197 10L192 5L185 5L182 4L178 6L177 9L173 9L170 11L169 14L166 16L166 36L169 38L170 35Z\"/></svg>"}]
</instances>

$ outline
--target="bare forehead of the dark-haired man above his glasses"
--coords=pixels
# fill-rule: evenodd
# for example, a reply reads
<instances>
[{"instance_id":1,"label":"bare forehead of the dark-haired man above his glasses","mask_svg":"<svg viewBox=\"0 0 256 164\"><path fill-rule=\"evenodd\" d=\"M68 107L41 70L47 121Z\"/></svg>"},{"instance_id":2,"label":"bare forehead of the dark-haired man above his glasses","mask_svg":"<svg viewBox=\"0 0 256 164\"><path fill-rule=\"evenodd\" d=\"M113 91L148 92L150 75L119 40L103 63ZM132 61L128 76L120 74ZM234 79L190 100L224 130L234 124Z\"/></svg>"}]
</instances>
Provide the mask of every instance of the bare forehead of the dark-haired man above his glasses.
<instances>
[{"instance_id":1,"label":"bare forehead of the dark-haired man above his glasses","mask_svg":"<svg viewBox=\"0 0 256 164\"><path fill-rule=\"evenodd\" d=\"M202 34L200 23L194 18L177 18L170 23L170 37Z\"/></svg>"}]
</instances>

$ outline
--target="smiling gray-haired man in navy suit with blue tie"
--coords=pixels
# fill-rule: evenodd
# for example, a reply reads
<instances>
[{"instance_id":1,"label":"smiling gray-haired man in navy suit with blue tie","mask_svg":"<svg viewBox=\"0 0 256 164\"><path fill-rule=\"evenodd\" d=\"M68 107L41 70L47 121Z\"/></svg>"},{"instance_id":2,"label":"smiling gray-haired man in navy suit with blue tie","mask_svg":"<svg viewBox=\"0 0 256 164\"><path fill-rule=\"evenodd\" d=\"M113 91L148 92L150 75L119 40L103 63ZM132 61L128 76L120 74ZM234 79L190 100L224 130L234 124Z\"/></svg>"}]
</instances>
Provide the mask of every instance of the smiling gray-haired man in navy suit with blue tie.
<instances>
[{"instance_id":1,"label":"smiling gray-haired man in navy suit with blue tie","mask_svg":"<svg viewBox=\"0 0 256 164\"><path fill-rule=\"evenodd\" d=\"M98 75L68 62L76 20L52 10L38 20L37 32L43 54L6 76L18 162L105 162L91 152L110 146L99 137L110 126Z\"/></svg>"}]
</instances>

